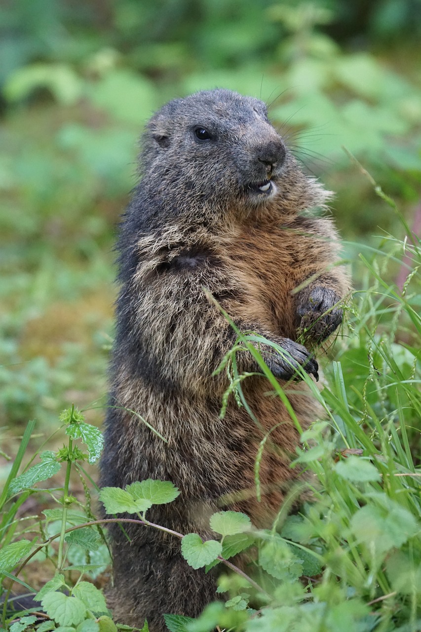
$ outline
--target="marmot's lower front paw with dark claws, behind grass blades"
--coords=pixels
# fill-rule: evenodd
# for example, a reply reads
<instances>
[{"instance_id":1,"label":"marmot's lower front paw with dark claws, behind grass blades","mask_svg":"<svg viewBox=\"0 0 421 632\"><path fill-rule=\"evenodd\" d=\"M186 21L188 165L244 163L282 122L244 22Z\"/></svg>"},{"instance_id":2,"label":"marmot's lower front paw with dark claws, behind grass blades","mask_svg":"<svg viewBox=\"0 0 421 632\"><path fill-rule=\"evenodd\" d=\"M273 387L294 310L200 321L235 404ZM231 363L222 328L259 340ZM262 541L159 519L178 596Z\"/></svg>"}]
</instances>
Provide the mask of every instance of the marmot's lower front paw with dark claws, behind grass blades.
<instances>
[{"instance_id":1,"label":"marmot's lower front paw with dark claws, behind grass blades","mask_svg":"<svg viewBox=\"0 0 421 632\"><path fill-rule=\"evenodd\" d=\"M308 374L313 374L316 381L319 380L319 365L302 344L283 338L279 346L286 351L285 355L277 353L272 348L262 354L275 377L281 380L290 380L291 377L300 380L300 374L296 369L302 367Z\"/></svg>"}]
</instances>

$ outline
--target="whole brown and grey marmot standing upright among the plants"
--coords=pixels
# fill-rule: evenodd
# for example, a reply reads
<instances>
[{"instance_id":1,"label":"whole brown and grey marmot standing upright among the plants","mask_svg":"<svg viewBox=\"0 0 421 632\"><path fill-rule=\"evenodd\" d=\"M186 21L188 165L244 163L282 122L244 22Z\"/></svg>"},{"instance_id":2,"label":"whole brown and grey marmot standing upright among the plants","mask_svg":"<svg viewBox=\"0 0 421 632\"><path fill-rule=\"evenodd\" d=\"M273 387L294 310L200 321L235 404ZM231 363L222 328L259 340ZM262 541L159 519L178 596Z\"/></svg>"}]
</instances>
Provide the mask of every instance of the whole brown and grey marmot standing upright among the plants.
<instances>
[{"instance_id":1,"label":"whole brown and grey marmot standing upright among the plants","mask_svg":"<svg viewBox=\"0 0 421 632\"><path fill-rule=\"evenodd\" d=\"M212 372L236 333L205 289L241 331L279 343L317 379L317 362L296 342L297 330L317 321L320 339L331 334L348 289L335 265L333 222L308 213L323 207L329 193L303 173L265 104L229 90L169 102L150 119L142 145L140 183L118 242L115 408L106 418L101 484L172 481L178 499L152 507L147 518L181 533L213 537L209 515L221 509L269 526L286 483L297 476L288 464L298 432L260 375L243 382L259 425L234 398L220 418L228 380ZM283 357L269 347L261 351L281 384L291 380L290 403L308 427L317 416L314 399ZM238 355L238 368L259 371L248 351ZM262 489L270 491L257 502L257 449L277 424L271 439L278 453L265 450L260 465ZM221 506L221 498L241 490L245 499ZM161 632L162 613L198 616L215 599L214 578L188 566L178 538L131 526L125 525L131 542L112 528L116 620L140 626L147 617L150 631Z\"/></svg>"}]
</instances>

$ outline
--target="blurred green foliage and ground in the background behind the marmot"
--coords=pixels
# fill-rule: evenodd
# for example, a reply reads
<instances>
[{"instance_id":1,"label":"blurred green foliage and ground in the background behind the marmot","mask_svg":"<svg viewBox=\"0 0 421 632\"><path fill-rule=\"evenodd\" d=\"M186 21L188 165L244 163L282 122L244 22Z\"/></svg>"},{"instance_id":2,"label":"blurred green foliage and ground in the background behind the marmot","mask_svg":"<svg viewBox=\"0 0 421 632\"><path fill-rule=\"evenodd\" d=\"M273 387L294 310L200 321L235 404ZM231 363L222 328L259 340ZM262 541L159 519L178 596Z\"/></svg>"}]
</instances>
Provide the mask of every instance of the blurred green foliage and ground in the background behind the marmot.
<instances>
[{"instance_id":1,"label":"blurred green foliage and ground in the background behind the marmot","mask_svg":"<svg viewBox=\"0 0 421 632\"><path fill-rule=\"evenodd\" d=\"M71 402L90 408L91 422L103 416L114 234L135 183L137 138L157 107L213 87L266 100L308 173L336 191L353 259L359 246L348 242L405 235L343 146L410 225L421 214L420 37L420 0L4 0L6 447L13 427L35 417L51 428Z\"/></svg>"}]
</instances>

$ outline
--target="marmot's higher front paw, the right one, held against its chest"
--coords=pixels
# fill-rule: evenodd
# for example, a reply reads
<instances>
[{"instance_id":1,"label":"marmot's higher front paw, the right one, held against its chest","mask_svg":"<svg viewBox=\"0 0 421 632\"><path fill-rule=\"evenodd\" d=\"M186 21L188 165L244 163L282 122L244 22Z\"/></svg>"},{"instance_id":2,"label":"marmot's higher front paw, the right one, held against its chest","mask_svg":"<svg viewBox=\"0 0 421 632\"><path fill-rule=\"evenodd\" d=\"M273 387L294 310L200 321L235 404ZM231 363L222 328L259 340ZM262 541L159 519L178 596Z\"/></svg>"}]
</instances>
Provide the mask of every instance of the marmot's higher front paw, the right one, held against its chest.
<instances>
[{"instance_id":1,"label":"marmot's higher front paw, the right one, held against its chest","mask_svg":"<svg viewBox=\"0 0 421 632\"><path fill-rule=\"evenodd\" d=\"M297 315L304 336L322 342L333 334L342 322L341 308L334 307L340 301L333 289L317 286L298 304Z\"/></svg>"}]
</instances>

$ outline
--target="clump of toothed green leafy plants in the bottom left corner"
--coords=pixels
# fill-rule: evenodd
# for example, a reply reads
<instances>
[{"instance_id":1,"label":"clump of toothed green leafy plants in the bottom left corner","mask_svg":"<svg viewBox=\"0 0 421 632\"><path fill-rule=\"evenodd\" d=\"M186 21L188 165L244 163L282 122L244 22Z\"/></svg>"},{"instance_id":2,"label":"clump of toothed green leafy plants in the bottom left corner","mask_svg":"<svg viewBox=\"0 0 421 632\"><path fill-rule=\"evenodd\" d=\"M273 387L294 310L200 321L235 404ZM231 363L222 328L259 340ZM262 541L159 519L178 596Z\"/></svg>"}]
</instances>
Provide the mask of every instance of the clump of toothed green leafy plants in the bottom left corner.
<instances>
[{"instance_id":1,"label":"clump of toothed green leafy plants in the bottom left corner","mask_svg":"<svg viewBox=\"0 0 421 632\"><path fill-rule=\"evenodd\" d=\"M90 581L82 581L83 574L94 578L95 574L104 569L109 562L101 522L95 520L90 508L87 481L93 482L83 468L85 461L95 463L99 458L103 446L102 434L98 428L85 423L82 413L75 410L74 406L63 411L60 421L69 437L68 444L55 453L40 453L40 463L30 466L35 454L23 473L17 476L35 427L35 422L28 423L0 497L2 628L10 629L11 632L23 632L25 629L34 628L40 632L56 628L61 632L113 632L116 626L101 590ZM82 451L80 444L85 446L86 453ZM37 483L58 475L64 464L63 488L34 487ZM83 483L83 504L70 494L72 468L78 471ZM34 516L19 518L18 510L30 495L40 492L51 495L60 507L42 512L44 520L39 520L39 535L29 540L25 535L34 532ZM61 492L61 495L58 495L58 492ZM57 529L59 531L55 533ZM51 532L52 535L49 535ZM56 541L58 547L54 549L52 543ZM28 562L43 559L50 559L56 572L37 592L21 579L20 573ZM14 574L11 573L13 569ZM70 573L67 571L78 571L78 580L70 581ZM21 607L13 608L16 598L11 597L11 591L15 582L27 588L26 596L32 597L34 602L39 602L39 607L30 607L25 611Z\"/></svg>"}]
</instances>

